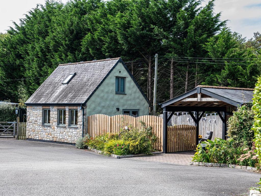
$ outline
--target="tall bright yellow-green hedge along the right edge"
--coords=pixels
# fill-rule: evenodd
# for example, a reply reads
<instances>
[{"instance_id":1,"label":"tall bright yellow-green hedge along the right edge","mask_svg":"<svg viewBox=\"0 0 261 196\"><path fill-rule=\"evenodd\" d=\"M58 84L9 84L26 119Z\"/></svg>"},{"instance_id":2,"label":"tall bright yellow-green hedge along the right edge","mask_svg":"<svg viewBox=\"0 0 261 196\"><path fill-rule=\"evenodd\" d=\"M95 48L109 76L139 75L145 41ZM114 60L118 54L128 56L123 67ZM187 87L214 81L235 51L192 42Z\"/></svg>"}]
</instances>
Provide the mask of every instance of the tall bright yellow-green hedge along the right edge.
<instances>
[{"instance_id":1,"label":"tall bright yellow-green hedge along the right edge","mask_svg":"<svg viewBox=\"0 0 261 196\"><path fill-rule=\"evenodd\" d=\"M256 146L259 164L261 163L261 76L258 78L254 90L253 107L254 116L254 142Z\"/></svg>"}]
</instances>

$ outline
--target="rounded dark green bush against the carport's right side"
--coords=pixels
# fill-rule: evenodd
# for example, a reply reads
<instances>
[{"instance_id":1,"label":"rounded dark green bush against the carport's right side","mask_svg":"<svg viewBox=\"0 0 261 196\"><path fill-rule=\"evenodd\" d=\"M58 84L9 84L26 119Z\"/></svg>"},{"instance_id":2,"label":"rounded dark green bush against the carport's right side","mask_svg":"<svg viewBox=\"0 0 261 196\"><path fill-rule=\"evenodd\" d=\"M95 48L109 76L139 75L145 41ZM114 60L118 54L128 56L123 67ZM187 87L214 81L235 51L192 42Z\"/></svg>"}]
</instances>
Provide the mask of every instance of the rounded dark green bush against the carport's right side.
<instances>
[{"instance_id":1,"label":"rounded dark green bush against the carport's right side","mask_svg":"<svg viewBox=\"0 0 261 196\"><path fill-rule=\"evenodd\" d=\"M254 122L254 112L251 109L252 103L238 107L233 116L228 119L228 136L237 143L247 142L251 146L254 131L252 130Z\"/></svg>"}]
</instances>

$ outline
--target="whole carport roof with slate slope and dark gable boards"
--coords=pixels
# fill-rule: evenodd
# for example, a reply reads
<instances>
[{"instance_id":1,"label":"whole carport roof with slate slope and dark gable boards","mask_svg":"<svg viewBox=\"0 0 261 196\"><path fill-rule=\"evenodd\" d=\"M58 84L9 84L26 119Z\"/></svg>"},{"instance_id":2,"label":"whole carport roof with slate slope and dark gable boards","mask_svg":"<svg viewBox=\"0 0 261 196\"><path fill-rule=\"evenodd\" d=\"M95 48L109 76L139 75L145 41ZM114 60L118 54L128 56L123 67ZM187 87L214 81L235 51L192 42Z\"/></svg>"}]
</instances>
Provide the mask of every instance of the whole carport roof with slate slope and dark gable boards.
<instances>
[{"instance_id":1,"label":"whole carport roof with slate slope and dark gable boards","mask_svg":"<svg viewBox=\"0 0 261 196\"><path fill-rule=\"evenodd\" d=\"M233 88L233 87L216 87L198 85L195 89L188 91L180 96L161 103L161 107L171 105L177 101L189 97L195 93L203 93L210 97L216 98L228 104L238 106L247 102L252 102L254 89L250 88Z\"/></svg>"}]
</instances>

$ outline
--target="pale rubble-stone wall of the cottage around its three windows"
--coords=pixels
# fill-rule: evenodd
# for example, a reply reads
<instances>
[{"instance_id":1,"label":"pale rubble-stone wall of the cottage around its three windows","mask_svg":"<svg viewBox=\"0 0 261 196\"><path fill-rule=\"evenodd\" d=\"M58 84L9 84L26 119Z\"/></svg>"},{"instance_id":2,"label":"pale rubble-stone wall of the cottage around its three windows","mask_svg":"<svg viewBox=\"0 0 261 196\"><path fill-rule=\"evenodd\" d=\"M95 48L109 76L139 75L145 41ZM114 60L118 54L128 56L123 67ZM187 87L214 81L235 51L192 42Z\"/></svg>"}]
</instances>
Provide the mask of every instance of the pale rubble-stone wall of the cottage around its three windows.
<instances>
[{"instance_id":1,"label":"pale rubble-stone wall of the cottage around its three windows","mask_svg":"<svg viewBox=\"0 0 261 196\"><path fill-rule=\"evenodd\" d=\"M50 108L50 125L42 124L42 109ZM66 109L66 125L57 126L57 110ZM69 109L78 109L78 126L69 126ZM86 131L86 109L84 111ZM75 143L82 136L82 110L80 106L27 106L27 135L29 139Z\"/></svg>"}]
</instances>

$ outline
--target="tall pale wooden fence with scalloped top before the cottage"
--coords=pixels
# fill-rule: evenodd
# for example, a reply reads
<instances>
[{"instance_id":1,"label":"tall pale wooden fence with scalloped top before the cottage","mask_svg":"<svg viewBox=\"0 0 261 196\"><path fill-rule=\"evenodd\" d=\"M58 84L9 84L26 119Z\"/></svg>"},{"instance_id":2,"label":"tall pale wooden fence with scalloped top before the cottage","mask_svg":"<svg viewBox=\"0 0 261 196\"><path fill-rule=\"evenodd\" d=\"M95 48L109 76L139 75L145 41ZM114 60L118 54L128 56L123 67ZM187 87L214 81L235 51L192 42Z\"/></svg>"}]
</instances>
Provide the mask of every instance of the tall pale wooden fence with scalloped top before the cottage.
<instances>
[{"instance_id":1,"label":"tall pale wooden fence with scalloped top before the cottage","mask_svg":"<svg viewBox=\"0 0 261 196\"><path fill-rule=\"evenodd\" d=\"M96 137L103 133L119 133L121 128L131 125L142 130L142 125L139 121L145 122L146 125L152 126L152 133L157 136L157 141L154 147L157 150L162 150L162 135L163 135L163 118L157 116L140 116L132 117L129 115L107 116L104 114L94 114L88 116L88 134L91 137Z\"/></svg>"}]
</instances>

